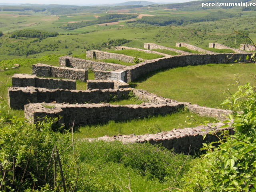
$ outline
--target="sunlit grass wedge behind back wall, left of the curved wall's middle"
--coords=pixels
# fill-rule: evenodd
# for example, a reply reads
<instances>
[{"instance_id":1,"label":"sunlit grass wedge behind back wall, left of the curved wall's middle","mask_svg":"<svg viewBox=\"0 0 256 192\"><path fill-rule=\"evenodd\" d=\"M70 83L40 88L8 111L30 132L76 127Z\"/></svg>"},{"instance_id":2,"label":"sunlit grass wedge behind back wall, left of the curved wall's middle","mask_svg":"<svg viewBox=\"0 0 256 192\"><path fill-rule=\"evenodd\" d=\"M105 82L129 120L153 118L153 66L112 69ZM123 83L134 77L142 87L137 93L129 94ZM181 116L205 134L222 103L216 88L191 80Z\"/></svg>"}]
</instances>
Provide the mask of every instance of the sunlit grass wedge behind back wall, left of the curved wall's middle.
<instances>
[{"instance_id":1,"label":"sunlit grass wedge behind back wall, left of the curved wall's middle","mask_svg":"<svg viewBox=\"0 0 256 192\"><path fill-rule=\"evenodd\" d=\"M114 50L114 51L108 51L108 52L117 53L117 54L124 54L124 55L132 56L132 57L138 57L138 58L142 58L142 59L146 59L146 60L164 57L163 55L146 53L146 52L142 52L142 51L129 50L129 49Z\"/></svg>"}]
</instances>

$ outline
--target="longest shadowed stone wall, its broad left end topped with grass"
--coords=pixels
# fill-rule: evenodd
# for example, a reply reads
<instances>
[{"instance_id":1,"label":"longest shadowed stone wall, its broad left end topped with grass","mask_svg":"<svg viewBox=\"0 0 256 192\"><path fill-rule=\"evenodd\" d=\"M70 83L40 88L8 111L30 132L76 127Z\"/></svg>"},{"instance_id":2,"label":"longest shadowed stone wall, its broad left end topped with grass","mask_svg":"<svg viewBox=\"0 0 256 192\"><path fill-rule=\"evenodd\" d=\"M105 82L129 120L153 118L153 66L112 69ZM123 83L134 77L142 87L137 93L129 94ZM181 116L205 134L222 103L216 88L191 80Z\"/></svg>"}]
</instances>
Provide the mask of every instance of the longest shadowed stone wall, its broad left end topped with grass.
<instances>
[{"instance_id":1,"label":"longest shadowed stone wall, its broad left end topped with grass","mask_svg":"<svg viewBox=\"0 0 256 192\"><path fill-rule=\"evenodd\" d=\"M52 107L47 107L50 105ZM25 118L31 122L41 121L45 116L59 118L65 126L98 124L114 121L124 121L133 118L165 115L177 112L182 105L143 104L143 105L112 105L112 104L46 104L31 103L25 106ZM62 117L62 118L60 118Z\"/></svg>"}]
</instances>

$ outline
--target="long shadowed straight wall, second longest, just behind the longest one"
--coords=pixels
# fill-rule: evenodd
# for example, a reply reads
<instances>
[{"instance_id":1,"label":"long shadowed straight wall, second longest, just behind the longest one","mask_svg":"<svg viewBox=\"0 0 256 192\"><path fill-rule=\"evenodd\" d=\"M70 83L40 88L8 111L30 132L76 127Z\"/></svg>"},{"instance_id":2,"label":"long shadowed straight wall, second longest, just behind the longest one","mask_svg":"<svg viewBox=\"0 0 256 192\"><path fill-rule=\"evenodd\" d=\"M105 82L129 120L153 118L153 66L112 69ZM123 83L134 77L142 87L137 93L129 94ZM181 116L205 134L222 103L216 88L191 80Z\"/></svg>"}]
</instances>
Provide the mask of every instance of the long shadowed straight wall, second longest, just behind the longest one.
<instances>
[{"instance_id":1,"label":"long shadowed straight wall, second longest, just behind the longest one","mask_svg":"<svg viewBox=\"0 0 256 192\"><path fill-rule=\"evenodd\" d=\"M24 109L24 105L29 103L99 103L109 102L116 96L120 100L127 96L131 88L122 90L64 90L64 89L46 89L35 87L9 87L8 104L11 109Z\"/></svg>"}]
</instances>

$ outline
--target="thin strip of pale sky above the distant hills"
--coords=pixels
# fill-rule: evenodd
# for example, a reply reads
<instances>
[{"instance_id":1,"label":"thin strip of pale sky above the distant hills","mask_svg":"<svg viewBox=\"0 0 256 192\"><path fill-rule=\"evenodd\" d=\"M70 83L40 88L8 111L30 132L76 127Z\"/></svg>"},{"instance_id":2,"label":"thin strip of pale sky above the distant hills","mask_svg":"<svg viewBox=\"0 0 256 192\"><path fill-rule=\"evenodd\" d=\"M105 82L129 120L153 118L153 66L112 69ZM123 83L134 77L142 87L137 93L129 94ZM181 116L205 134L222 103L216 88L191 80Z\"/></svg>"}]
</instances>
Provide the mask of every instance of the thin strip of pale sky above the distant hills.
<instances>
[{"instance_id":1,"label":"thin strip of pale sky above the distant hills","mask_svg":"<svg viewBox=\"0 0 256 192\"><path fill-rule=\"evenodd\" d=\"M96 4L112 4L112 3L123 3L133 0L0 0L0 3L10 4L68 4L68 5L96 5ZM149 2L189 2L192 0L146 0Z\"/></svg>"}]
</instances>

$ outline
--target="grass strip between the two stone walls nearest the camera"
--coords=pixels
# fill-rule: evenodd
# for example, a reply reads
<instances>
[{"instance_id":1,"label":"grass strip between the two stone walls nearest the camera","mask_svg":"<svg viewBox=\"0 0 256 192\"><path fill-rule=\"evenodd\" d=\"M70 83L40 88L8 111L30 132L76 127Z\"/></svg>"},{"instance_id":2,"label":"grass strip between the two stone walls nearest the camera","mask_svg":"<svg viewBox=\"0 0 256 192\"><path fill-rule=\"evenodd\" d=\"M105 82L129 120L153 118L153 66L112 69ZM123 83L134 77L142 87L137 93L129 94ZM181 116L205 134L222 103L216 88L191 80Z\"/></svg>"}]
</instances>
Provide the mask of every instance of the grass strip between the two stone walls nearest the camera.
<instances>
[{"instance_id":1,"label":"grass strip between the two stone walls nearest the camera","mask_svg":"<svg viewBox=\"0 0 256 192\"><path fill-rule=\"evenodd\" d=\"M117 134L146 134L157 133L162 131L170 131L174 128L194 127L199 125L193 124L193 120L189 120L187 116L194 116L198 121L204 122L210 120L214 122L213 118L200 117L196 114L187 111L180 111L166 116L156 116L143 119L133 119L125 122L110 121L106 124L80 126L74 137L81 138L96 138L104 135L113 136ZM192 123L192 124L188 124Z\"/></svg>"}]
</instances>

